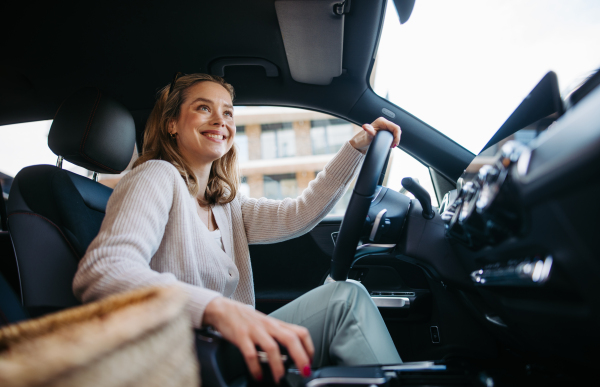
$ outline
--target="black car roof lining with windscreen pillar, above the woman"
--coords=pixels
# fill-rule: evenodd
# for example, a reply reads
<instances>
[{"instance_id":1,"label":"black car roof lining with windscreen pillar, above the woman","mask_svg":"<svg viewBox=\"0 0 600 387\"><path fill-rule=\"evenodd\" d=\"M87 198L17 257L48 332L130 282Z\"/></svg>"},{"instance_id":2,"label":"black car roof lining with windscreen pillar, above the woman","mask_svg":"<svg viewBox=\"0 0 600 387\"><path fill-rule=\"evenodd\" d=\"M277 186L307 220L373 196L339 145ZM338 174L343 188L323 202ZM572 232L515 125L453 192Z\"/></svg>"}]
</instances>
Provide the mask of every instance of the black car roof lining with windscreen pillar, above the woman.
<instances>
[{"instance_id":1,"label":"black car roof lining with windscreen pillar, above the woman","mask_svg":"<svg viewBox=\"0 0 600 387\"><path fill-rule=\"evenodd\" d=\"M314 10L307 10L309 5ZM52 119L61 101L91 86L132 112L141 135L139 125L157 91L178 71L224 75L235 87L236 105L289 106L358 124L372 121L392 105L376 98L369 85L386 1L352 0L351 5L327 0L8 2L2 13L10 17L0 24L0 125ZM283 16L281 7L291 7L290 15ZM311 44L294 36L306 28L300 21L288 24L294 11L306 22L311 12L319 13L314 28L321 32L312 34ZM321 58L323 51L327 55ZM380 102L353 116L366 94ZM392 110L394 121L406 115L398 107ZM440 136L424 123L408 122L402 128L405 138L410 132L419 138ZM460 147L441 140L448 154ZM412 148L410 141L406 148ZM436 157L415 153L427 163ZM448 162L456 164L445 172L448 176L468 165L464 160L433 164Z\"/></svg>"}]
</instances>

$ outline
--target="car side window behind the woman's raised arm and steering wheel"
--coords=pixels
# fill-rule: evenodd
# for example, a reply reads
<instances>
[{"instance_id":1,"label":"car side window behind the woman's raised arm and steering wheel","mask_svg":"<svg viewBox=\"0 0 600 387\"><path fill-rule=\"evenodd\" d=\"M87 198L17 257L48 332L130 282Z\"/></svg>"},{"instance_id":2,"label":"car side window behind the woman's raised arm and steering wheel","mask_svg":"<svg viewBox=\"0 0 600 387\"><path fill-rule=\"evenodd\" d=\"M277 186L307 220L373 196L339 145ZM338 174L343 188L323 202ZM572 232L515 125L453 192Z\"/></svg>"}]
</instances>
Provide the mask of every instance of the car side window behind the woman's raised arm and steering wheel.
<instances>
[{"instance_id":1,"label":"car side window behind the woman's raised arm and steering wheel","mask_svg":"<svg viewBox=\"0 0 600 387\"><path fill-rule=\"evenodd\" d=\"M235 120L241 192L255 198L299 196L342 145L361 130L324 113L281 107L237 106ZM399 191L406 176L418 179L437 206L428 168L396 148L384 185ZM352 187L329 215L344 214L351 192Z\"/></svg>"}]
</instances>

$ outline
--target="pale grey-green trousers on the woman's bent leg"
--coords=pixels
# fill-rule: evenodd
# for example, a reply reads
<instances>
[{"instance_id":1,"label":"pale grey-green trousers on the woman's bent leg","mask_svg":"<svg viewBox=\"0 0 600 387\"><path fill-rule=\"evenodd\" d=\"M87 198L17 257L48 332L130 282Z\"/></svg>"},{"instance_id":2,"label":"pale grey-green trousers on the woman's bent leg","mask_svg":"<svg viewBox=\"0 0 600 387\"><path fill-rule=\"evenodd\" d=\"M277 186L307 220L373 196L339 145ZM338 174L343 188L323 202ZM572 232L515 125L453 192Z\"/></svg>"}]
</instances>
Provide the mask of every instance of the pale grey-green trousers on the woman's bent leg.
<instances>
[{"instance_id":1,"label":"pale grey-green trousers on the woman's bent leg","mask_svg":"<svg viewBox=\"0 0 600 387\"><path fill-rule=\"evenodd\" d=\"M306 327L315 345L313 367L402 363L377 306L362 286L319 286L270 314Z\"/></svg>"}]
</instances>

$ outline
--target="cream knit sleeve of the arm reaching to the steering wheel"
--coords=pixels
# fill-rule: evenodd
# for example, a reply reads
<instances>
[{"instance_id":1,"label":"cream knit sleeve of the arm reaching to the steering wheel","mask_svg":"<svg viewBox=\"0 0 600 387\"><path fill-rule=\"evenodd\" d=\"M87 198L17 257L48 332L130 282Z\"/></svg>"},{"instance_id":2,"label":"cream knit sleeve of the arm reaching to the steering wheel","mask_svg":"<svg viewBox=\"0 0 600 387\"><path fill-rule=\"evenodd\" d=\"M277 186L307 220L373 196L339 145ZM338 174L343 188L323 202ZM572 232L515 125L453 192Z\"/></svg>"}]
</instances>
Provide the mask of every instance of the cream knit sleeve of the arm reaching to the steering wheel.
<instances>
[{"instance_id":1,"label":"cream knit sleeve of the arm reaching to the steering wheel","mask_svg":"<svg viewBox=\"0 0 600 387\"><path fill-rule=\"evenodd\" d=\"M346 142L296 199L240 197L249 244L276 243L310 231L344 195L363 154Z\"/></svg>"}]
</instances>

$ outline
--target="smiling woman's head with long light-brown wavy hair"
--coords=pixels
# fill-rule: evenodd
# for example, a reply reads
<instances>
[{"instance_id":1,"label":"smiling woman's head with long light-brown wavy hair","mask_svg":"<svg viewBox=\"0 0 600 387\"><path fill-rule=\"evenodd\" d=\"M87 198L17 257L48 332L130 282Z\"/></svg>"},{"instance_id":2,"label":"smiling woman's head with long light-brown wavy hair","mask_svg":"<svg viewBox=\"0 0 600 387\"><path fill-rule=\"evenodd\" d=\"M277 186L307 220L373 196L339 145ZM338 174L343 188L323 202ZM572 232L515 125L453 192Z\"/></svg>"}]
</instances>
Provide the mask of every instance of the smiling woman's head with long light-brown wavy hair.
<instances>
[{"instance_id":1,"label":"smiling woman's head with long light-brown wavy hair","mask_svg":"<svg viewBox=\"0 0 600 387\"><path fill-rule=\"evenodd\" d=\"M232 146L234 96L231 85L207 74L185 75L165 86L148 119L142 155L134 167L148 160L169 161L192 195L204 192L200 211L229 203L239 184ZM205 186L199 186L198 179L207 181ZM210 223L210 217L202 218Z\"/></svg>"}]
</instances>

